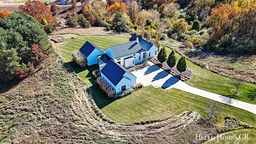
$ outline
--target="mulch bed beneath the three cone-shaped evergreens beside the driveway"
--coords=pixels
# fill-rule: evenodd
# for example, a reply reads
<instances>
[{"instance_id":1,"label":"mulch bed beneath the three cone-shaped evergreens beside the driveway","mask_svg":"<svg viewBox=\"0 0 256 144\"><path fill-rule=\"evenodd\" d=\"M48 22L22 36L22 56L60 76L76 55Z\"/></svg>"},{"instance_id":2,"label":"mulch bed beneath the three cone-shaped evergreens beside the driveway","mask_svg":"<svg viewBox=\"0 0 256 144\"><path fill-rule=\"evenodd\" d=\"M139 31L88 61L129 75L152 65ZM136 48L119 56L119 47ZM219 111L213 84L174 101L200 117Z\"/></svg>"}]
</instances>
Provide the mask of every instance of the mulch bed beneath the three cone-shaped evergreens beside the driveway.
<instances>
[{"instance_id":1,"label":"mulch bed beneath the three cone-shaped evergreens beside the driveway","mask_svg":"<svg viewBox=\"0 0 256 144\"><path fill-rule=\"evenodd\" d=\"M183 71L180 75L180 72L177 70L176 66L174 66L173 68L170 68L166 62L161 63L158 61L157 58L152 58L150 59L150 61L153 62L158 67L161 67L163 70L167 71L167 73L179 78L183 82L188 81L192 77L192 71L189 69L186 69L186 71Z\"/></svg>"}]
</instances>

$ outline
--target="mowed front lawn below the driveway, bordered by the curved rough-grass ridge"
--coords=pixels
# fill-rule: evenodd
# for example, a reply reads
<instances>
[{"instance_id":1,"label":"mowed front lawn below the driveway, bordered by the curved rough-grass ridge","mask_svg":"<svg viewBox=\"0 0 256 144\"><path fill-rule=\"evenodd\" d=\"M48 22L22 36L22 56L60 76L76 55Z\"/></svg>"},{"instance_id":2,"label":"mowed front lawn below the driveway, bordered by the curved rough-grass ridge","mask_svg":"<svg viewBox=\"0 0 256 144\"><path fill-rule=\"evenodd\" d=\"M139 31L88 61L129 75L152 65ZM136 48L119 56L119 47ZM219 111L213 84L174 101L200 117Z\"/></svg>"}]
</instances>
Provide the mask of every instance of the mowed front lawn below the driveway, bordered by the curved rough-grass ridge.
<instances>
[{"instance_id":1,"label":"mowed front lawn below the driveway, bordered by the curved rough-grass ridge","mask_svg":"<svg viewBox=\"0 0 256 144\"><path fill-rule=\"evenodd\" d=\"M153 86L142 89L118 99L101 109L102 113L119 123L134 123L153 119L165 119L180 114L185 110L198 111L206 117L205 108L211 100L177 89L155 89ZM242 122L256 124L256 115L245 110L220 103L223 107L219 121L225 126L225 117L230 116Z\"/></svg>"}]
</instances>

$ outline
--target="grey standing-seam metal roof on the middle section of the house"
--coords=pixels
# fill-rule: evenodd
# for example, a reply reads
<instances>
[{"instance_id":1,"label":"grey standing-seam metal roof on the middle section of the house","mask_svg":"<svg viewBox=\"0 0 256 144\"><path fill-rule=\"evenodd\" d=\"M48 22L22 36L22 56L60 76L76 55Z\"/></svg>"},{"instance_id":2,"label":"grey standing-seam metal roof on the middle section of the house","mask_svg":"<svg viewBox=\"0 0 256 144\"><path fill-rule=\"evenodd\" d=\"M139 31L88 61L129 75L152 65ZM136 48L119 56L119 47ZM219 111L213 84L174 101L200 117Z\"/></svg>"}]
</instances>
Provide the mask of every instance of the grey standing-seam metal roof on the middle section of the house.
<instances>
[{"instance_id":1,"label":"grey standing-seam metal roof on the middle section of the house","mask_svg":"<svg viewBox=\"0 0 256 144\"><path fill-rule=\"evenodd\" d=\"M136 39L135 41L110 46L108 50L111 51L115 59L145 51L140 43L136 42Z\"/></svg>"}]
</instances>

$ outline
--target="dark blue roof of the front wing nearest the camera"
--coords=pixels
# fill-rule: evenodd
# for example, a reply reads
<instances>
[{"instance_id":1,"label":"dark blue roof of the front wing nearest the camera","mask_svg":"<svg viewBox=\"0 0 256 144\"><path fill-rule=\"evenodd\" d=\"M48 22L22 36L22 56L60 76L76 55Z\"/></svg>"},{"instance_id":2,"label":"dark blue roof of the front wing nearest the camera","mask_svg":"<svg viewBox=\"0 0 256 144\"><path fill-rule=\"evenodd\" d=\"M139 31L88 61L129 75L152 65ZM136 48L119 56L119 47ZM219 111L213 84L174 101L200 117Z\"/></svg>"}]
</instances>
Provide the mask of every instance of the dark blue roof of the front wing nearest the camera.
<instances>
[{"instance_id":1,"label":"dark blue roof of the front wing nearest the camera","mask_svg":"<svg viewBox=\"0 0 256 144\"><path fill-rule=\"evenodd\" d=\"M115 86L122 80L125 73L134 76L129 70L124 68L119 63L113 61L112 59L108 61L108 63L101 69L100 72L105 75L108 80Z\"/></svg>"}]
</instances>

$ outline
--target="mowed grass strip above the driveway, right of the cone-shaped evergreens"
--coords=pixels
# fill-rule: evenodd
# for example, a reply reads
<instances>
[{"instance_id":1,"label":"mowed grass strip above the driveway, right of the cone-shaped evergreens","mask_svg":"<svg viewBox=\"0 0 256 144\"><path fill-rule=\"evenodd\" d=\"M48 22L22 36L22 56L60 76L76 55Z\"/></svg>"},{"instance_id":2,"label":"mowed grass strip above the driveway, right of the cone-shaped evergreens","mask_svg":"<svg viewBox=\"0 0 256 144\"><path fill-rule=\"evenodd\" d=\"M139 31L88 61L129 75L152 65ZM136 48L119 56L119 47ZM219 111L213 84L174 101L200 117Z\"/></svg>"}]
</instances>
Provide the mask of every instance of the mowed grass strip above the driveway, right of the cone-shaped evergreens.
<instances>
[{"instance_id":1,"label":"mowed grass strip above the driveway, right of the cone-shaped evergreens","mask_svg":"<svg viewBox=\"0 0 256 144\"><path fill-rule=\"evenodd\" d=\"M166 51L167 55L169 55L172 50L167 48ZM176 53L176 56L180 58L178 53ZM199 67L190 61L187 61L187 68L193 73L192 79L187 81L187 84L190 86L224 95L226 97L230 97L234 94L233 90L235 90L236 87L232 84L234 82L233 78L215 74L212 71ZM238 89L239 93L236 94L234 99L256 104L256 100L251 101L245 96L245 94L250 90L253 90L254 87L256 87L255 84L243 82L241 87Z\"/></svg>"}]
</instances>

